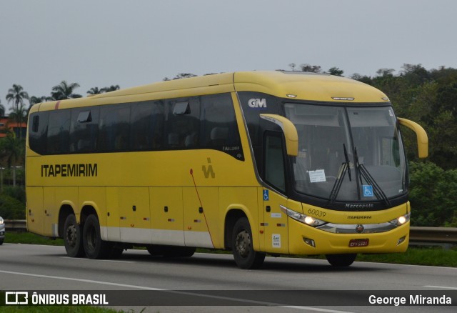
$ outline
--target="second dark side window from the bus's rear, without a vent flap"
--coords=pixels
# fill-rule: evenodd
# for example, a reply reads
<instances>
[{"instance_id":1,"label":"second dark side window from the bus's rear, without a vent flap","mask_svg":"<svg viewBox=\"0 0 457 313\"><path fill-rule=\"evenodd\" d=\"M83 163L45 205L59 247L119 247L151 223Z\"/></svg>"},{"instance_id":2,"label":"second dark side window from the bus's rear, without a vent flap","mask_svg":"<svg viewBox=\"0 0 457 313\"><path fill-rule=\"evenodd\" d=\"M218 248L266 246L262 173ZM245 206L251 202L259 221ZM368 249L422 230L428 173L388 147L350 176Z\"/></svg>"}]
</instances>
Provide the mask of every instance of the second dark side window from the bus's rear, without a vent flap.
<instances>
[{"instance_id":1,"label":"second dark side window from the bus's rear, without a vent flap","mask_svg":"<svg viewBox=\"0 0 457 313\"><path fill-rule=\"evenodd\" d=\"M61 109L49 112L48 154L66 154L69 152L71 110Z\"/></svg>"}]
</instances>

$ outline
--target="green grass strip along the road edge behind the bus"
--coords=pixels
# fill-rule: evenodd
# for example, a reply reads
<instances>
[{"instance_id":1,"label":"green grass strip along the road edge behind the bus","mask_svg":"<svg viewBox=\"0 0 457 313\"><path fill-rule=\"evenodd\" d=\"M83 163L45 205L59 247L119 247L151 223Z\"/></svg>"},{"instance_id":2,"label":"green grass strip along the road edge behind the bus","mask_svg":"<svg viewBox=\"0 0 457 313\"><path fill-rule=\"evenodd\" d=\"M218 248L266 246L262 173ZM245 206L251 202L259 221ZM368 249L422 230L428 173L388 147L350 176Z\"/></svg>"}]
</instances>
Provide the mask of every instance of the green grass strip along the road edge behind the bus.
<instances>
[{"instance_id":1,"label":"green grass strip along the road edge behind the bus","mask_svg":"<svg viewBox=\"0 0 457 313\"><path fill-rule=\"evenodd\" d=\"M51 240L29 232L9 232L6 234L5 242L14 244L64 245L62 239ZM197 249L197 252L229 253L226 251L215 252L214 250L209 249ZM453 249L443 249L441 247L410 247L405 253L359 254L356 261L428 265L434 267L457 267L457 249L456 247Z\"/></svg>"}]
</instances>

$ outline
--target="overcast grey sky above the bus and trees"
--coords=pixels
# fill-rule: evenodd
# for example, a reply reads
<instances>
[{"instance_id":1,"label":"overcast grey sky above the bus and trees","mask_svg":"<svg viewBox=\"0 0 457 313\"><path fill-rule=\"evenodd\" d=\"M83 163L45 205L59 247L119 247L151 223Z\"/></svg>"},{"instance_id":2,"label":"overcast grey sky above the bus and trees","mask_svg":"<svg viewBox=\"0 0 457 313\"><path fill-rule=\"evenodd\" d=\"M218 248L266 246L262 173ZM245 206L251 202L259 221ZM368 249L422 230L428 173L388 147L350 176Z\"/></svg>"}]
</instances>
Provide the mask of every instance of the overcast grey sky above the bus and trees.
<instances>
[{"instance_id":1,"label":"overcast grey sky above the bus and trees","mask_svg":"<svg viewBox=\"0 0 457 313\"><path fill-rule=\"evenodd\" d=\"M150 84L179 73L457 68L455 0L1 0L0 103L13 84Z\"/></svg>"}]
</instances>

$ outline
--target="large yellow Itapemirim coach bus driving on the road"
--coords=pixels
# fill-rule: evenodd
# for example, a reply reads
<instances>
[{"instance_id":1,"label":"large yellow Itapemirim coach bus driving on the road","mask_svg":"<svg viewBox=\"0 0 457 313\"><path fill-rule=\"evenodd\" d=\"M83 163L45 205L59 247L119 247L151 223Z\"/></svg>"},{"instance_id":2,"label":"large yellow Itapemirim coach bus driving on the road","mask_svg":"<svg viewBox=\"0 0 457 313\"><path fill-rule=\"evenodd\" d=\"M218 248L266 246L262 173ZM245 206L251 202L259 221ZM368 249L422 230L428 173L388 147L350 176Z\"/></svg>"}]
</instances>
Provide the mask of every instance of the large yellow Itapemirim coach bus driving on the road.
<instances>
[{"instance_id":1,"label":"large yellow Itapemirim coach bus driving on the road","mask_svg":"<svg viewBox=\"0 0 457 313\"><path fill-rule=\"evenodd\" d=\"M246 71L161 81L31 108L29 232L70 257L404 252L411 207L387 96L323 74Z\"/></svg>"}]
</instances>

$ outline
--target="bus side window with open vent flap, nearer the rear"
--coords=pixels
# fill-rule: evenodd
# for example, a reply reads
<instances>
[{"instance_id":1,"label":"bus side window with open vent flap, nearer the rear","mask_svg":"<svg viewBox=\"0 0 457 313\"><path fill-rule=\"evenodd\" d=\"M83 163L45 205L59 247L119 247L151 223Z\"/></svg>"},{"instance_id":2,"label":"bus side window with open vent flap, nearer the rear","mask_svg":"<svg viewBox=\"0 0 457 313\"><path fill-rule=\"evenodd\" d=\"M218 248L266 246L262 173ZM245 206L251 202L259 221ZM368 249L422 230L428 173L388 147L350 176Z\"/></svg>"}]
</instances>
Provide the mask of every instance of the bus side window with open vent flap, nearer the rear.
<instances>
[{"instance_id":1,"label":"bus side window with open vent flap, nearer the rear","mask_svg":"<svg viewBox=\"0 0 457 313\"><path fill-rule=\"evenodd\" d=\"M70 152L96 151L99 134L99 108L71 109Z\"/></svg>"}]
</instances>

